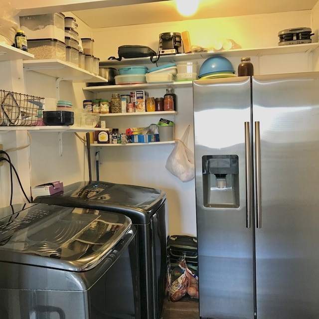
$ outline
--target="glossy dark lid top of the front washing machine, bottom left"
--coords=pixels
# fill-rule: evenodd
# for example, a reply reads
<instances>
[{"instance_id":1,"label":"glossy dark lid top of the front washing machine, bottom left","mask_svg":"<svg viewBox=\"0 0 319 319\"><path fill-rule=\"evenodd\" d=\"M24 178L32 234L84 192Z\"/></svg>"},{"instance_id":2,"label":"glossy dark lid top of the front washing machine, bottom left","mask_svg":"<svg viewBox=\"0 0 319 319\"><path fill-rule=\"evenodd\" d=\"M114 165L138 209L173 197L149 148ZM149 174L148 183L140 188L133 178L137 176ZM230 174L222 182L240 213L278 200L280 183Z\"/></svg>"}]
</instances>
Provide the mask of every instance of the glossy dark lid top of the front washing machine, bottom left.
<instances>
[{"instance_id":1,"label":"glossy dark lid top of the front washing machine, bottom left","mask_svg":"<svg viewBox=\"0 0 319 319\"><path fill-rule=\"evenodd\" d=\"M109 255L132 225L130 218L117 213L29 206L0 208L0 261L89 270Z\"/></svg>"}]
</instances>

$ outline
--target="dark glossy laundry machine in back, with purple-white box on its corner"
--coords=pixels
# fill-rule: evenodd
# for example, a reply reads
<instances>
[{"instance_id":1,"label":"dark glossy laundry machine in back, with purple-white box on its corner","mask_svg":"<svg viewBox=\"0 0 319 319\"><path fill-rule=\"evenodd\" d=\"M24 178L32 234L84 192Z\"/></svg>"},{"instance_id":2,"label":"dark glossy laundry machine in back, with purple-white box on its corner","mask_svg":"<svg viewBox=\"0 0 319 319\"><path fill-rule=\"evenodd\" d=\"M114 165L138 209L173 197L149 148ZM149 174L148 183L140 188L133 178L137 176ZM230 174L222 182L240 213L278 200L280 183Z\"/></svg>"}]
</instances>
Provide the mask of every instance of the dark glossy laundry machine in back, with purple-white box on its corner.
<instances>
[{"instance_id":1,"label":"dark glossy laundry machine in back, with purple-white box on its corner","mask_svg":"<svg viewBox=\"0 0 319 319\"><path fill-rule=\"evenodd\" d=\"M168 237L166 194L156 188L105 181L80 181L35 202L122 213L138 233L142 319L159 319L166 288Z\"/></svg>"}]
</instances>

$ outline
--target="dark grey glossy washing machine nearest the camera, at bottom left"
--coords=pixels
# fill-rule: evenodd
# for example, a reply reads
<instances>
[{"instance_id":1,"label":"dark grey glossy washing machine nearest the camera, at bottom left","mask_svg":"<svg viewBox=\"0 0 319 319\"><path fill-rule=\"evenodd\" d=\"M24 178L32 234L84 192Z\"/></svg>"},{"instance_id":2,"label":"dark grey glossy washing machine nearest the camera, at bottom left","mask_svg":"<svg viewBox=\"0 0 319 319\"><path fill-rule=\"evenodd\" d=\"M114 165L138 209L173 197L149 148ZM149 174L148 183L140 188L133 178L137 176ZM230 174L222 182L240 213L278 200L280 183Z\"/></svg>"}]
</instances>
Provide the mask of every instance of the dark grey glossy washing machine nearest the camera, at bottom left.
<instances>
[{"instance_id":1,"label":"dark grey glossy washing machine nearest the camera, at bottom left","mask_svg":"<svg viewBox=\"0 0 319 319\"><path fill-rule=\"evenodd\" d=\"M123 214L0 208L0 318L141 318L136 249L135 226Z\"/></svg>"}]
</instances>

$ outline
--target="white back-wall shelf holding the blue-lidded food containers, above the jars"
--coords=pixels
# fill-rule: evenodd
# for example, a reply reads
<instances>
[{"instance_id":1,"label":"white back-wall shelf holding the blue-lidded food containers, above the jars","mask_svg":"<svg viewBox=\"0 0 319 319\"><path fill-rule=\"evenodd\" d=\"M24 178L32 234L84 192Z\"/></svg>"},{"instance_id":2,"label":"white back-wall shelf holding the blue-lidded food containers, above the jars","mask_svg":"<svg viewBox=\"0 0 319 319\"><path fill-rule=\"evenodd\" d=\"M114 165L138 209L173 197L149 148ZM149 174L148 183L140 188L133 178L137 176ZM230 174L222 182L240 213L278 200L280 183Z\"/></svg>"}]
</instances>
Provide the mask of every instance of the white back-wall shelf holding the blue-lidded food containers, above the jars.
<instances>
[{"instance_id":1,"label":"white back-wall shelf holding the blue-lidded food containers, above the jars","mask_svg":"<svg viewBox=\"0 0 319 319\"><path fill-rule=\"evenodd\" d=\"M161 89L169 87L192 87L193 81L178 81L178 82L158 82L158 83L141 83L141 84L122 84L122 85L99 85L88 86L83 88L84 91L91 92L106 92L106 91L128 91L141 89Z\"/></svg>"}]
</instances>

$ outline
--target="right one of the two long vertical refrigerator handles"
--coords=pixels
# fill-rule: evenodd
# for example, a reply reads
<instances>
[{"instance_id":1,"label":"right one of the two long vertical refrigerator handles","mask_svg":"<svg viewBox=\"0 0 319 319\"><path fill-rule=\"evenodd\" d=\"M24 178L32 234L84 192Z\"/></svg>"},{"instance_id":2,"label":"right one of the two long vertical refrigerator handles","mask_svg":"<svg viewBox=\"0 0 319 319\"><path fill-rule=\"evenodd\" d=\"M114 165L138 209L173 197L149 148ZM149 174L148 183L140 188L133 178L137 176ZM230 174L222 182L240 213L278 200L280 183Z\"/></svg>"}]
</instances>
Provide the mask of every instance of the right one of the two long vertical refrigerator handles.
<instances>
[{"instance_id":1,"label":"right one of the two long vertical refrigerator handles","mask_svg":"<svg viewBox=\"0 0 319 319\"><path fill-rule=\"evenodd\" d=\"M255 162L256 162L256 223L261 228L261 196L260 196L260 129L255 122Z\"/></svg>"}]
</instances>

